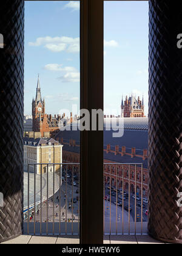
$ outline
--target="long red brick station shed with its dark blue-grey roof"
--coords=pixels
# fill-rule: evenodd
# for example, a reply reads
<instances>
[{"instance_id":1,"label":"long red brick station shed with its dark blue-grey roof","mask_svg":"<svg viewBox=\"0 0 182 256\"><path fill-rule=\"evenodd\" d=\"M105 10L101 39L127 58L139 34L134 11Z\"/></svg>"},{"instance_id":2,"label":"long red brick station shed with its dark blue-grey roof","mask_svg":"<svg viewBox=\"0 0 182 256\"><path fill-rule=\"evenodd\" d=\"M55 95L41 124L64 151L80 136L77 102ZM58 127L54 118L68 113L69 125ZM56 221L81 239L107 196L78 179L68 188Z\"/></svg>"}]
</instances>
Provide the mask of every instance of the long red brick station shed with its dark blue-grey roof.
<instances>
[{"instance_id":1,"label":"long red brick station shed with its dark blue-grey roof","mask_svg":"<svg viewBox=\"0 0 182 256\"><path fill-rule=\"evenodd\" d=\"M79 163L79 131L60 131L55 140L63 144L62 160L66 163ZM148 196L149 173L147 168L147 118L125 119L124 136L113 138L112 131L104 130L104 163L123 163L104 165L104 183L123 188L133 193ZM125 165L124 163L130 163ZM135 165L138 163L138 165ZM143 169L140 163L143 164ZM136 166L136 169L135 169ZM75 166L78 169L78 166Z\"/></svg>"}]
</instances>

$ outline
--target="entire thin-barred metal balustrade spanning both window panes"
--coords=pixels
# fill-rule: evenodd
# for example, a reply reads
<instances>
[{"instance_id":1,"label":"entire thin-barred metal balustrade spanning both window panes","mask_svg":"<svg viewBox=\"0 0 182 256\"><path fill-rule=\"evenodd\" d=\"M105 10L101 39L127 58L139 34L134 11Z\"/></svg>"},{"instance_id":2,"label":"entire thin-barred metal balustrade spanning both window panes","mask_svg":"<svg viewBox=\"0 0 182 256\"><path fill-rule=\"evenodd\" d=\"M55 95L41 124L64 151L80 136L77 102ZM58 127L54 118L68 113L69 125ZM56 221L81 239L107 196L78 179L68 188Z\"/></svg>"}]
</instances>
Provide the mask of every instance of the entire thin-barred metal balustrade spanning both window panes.
<instances>
[{"instance_id":1,"label":"entire thin-barred metal balustrade spanning both window panes","mask_svg":"<svg viewBox=\"0 0 182 256\"><path fill-rule=\"evenodd\" d=\"M132 172L134 175L131 177ZM140 180L136 179L138 172ZM147 233L143 164L104 163L103 174L104 234ZM28 172L25 173L27 183L24 185L25 234L79 235L79 176L79 163L28 165ZM133 183L135 187L131 191L130 185ZM141 194L137 187L140 187Z\"/></svg>"}]
</instances>

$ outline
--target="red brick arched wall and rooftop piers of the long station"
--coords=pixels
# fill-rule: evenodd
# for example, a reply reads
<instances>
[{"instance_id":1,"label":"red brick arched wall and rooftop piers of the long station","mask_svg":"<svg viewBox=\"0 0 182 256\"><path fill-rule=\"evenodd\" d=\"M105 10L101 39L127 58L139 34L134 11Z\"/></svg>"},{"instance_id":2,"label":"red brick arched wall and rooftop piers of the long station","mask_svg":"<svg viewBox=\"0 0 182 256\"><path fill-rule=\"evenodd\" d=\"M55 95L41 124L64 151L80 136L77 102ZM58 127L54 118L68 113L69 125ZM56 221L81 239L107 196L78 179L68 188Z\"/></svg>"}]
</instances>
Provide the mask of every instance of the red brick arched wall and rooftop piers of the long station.
<instances>
[{"instance_id":1,"label":"red brick arched wall and rooftop piers of the long station","mask_svg":"<svg viewBox=\"0 0 182 256\"><path fill-rule=\"evenodd\" d=\"M70 147L72 146L77 146L79 145L75 144L74 140L70 140L69 143L64 143L63 138L61 138L60 142L64 145L67 144ZM110 144L107 144L107 149L104 149L107 153L111 152L113 154L121 154L122 155L130 155L132 157L133 152L135 152L135 148L132 148L132 152L126 153L126 147L122 147L122 152L119 152L119 147L115 147L115 151L110 151ZM147 149L144 149L143 155L135 155L136 157L141 158L141 163L142 160L145 160L147 158ZM63 162L67 163L79 163L80 161L80 155L75 152L71 151L64 151L64 146L62 148L62 160ZM129 191L129 186L130 186L130 193L135 192L135 184L136 184L136 193L140 194L143 191L143 196L147 197L148 196L148 179L149 179L149 173L147 168L141 169L141 165L136 165L136 170L135 170L135 165L107 165L107 163L111 163L112 161L107 160L106 158L104 159L104 184L116 188L116 180L118 182L117 187L118 188L123 188L124 191ZM112 162L116 163L116 162ZM78 168L78 166L75 166ZM118 169L118 170L117 170ZM124 172L123 172L124 171ZM143 172L143 173L142 173ZM130 174L130 179L129 179L129 174ZM136 177L135 177L136 176ZM136 179L136 182L135 182Z\"/></svg>"}]
</instances>

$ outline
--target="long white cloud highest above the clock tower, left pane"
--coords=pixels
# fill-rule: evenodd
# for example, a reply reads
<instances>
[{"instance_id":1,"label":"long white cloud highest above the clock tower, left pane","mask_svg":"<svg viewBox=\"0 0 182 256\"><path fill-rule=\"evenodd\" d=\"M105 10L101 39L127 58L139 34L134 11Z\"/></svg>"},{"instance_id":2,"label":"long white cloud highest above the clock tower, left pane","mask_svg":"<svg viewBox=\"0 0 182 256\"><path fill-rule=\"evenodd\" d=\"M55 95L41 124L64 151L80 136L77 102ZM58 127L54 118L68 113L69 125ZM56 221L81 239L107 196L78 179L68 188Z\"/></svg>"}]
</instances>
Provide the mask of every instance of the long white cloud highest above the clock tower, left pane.
<instances>
[{"instance_id":1,"label":"long white cloud highest above the clock tower, left pane","mask_svg":"<svg viewBox=\"0 0 182 256\"><path fill-rule=\"evenodd\" d=\"M38 37L29 46L44 46L52 52L79 52L79 37Z\"/></svg>"}]
</instances>

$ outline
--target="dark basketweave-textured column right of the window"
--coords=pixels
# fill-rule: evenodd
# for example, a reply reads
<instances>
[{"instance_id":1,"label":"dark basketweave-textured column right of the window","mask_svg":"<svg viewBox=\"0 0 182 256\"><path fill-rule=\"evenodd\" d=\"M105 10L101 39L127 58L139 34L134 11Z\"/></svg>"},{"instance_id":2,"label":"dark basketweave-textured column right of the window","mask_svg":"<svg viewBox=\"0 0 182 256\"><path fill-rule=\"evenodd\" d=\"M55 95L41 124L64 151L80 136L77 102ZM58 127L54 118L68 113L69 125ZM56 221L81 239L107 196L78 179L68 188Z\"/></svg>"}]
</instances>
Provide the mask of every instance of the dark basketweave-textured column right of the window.
<instances>
[{"instance_id":1,"label":"dark basketweave-textured column right of the window","mask_svg":"<svg viewBox=\"0 0 182 256\"><path fill-rule=\"evenodd\" d=\"M149 1L149 233L182 242L181 1Z\"/></svg>"}]
</instances>

